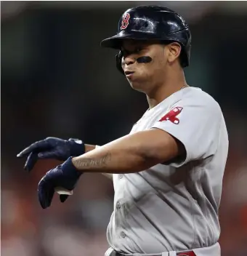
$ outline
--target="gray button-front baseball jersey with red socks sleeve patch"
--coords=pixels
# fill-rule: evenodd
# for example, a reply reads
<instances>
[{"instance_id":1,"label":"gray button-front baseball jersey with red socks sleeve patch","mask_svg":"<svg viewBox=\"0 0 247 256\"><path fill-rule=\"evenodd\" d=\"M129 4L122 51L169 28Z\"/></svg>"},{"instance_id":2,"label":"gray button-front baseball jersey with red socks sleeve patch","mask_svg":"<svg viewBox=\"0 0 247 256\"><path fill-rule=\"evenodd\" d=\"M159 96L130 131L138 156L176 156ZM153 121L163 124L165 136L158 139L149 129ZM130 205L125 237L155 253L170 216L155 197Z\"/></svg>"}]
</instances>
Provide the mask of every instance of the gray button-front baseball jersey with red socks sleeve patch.
<instances>
[{"instance_id":1,"label":"gray button-front baseball jersey with red socks sleeve patch","mask_svg":"<svg viewBox=\"0 0 247 256\"><path fill-rule=\"evenodd\" d=\"M228 152L221 108L206 92L187 87L147 111L131 133L152 128L180 140L186 159L113 175L110 247L123 253L151 254L215 244Z\"/></svg>"}]
</instances>

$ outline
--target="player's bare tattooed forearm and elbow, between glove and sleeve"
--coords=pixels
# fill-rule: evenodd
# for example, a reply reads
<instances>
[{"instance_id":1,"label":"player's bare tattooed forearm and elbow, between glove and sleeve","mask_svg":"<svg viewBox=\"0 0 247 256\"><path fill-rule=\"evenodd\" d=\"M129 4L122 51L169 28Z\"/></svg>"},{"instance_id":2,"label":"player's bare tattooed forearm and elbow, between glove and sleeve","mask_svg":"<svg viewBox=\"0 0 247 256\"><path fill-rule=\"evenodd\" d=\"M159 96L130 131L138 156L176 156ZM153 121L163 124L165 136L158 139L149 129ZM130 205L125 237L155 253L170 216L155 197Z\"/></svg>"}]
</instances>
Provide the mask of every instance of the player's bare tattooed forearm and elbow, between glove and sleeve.
<instances>
[{"instance_id":1,"label":"player's bare tattooed forearm and elbow, between glove and sleeve","mask_svg":"<svg viewBox=\"0 0 247 256\"><path fill-rule=\"evenodd\" d=\"M182 143L161 129L149 129L74 157L72 163L81 172L131 173L179 156L185 157Z\"/></svg>"}]
</instances>

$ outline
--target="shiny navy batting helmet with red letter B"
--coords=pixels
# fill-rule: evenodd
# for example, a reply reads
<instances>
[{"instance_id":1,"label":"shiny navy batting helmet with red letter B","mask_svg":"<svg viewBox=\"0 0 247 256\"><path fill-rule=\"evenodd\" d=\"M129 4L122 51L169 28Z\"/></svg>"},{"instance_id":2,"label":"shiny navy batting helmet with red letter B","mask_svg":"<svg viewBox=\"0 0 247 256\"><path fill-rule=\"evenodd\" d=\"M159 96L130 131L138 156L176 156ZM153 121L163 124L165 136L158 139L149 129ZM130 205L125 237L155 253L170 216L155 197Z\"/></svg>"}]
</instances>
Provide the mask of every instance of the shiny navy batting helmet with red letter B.
<instances>
[{"instance_id":1,"label":"shiny navy batting helmet with red letter B","mask_svg":"<svg viewBox=\"0 0 247 256\"><path fill-rule=\"evenodd\" d=\"M180 63L183 68L190 63L191 34L185 20L171 9L158 6L139 6L127 9L118 22L118 33L101 42L102 47L121 49L123 39L159 40L161 44L177 41L181 45ZM121 51L116 55L116 65L121 67Z\"/></svg>"}]
</instances>

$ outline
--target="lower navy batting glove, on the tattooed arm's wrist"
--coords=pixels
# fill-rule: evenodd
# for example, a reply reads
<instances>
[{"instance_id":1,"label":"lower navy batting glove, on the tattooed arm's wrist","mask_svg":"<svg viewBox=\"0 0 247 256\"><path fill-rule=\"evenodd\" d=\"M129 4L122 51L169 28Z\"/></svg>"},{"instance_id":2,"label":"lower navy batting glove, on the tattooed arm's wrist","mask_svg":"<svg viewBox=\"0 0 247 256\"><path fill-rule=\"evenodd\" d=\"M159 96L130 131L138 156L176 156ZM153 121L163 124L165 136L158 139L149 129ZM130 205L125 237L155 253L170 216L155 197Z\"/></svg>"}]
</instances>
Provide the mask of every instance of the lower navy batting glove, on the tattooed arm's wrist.
<instances>
[{"instance_id":1,"label":"lower navy batting glove, on the tattooed arm's wrist","mask_svg":"<svg viewBox=\"0 0 247 256\"><path fill-rule=\"evenodd\" d=\"M81 177L82 172L79 172L72 164L72 157L69 157L63 164L46 172L38 185L39 203L43 209L46 209L52 204L55 188L65 188L68 191L73 191L76 183ZM68 199L68 195L60 195L60 201L63 203Z\"/></svg>"}]
</instances>

